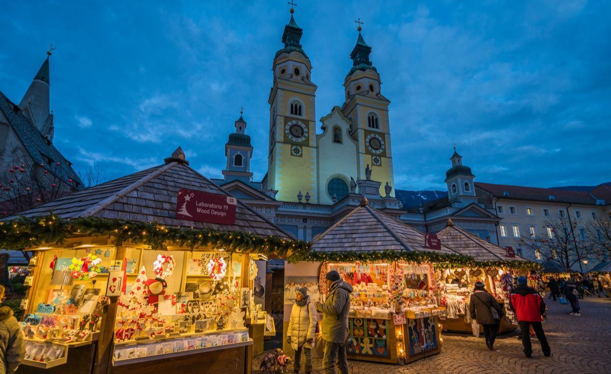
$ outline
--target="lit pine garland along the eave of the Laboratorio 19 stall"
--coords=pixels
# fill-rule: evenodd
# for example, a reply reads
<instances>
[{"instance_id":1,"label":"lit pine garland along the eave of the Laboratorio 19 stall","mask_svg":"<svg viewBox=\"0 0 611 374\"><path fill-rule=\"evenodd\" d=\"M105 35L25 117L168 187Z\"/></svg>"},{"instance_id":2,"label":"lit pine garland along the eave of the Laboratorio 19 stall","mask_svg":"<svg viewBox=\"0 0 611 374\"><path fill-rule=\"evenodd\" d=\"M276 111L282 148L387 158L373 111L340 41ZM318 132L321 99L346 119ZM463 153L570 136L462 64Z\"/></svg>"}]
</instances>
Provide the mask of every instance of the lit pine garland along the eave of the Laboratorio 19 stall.
<instances>
[{"instance_id":1,"label":"lit pine garland along the eave of the Laboratorio 19 stall","mask_svg":"<svg viewBox=\"0 0 611 374\"><path fill-rule=\"evenodd\" d=\"M213 229L184 229L155 222L133 222L108 218L61 219L57 215L42 218L20 216L0 222L0 248L27 249L43 244L63 244L73 237L114 237L115 243L142 243L153 249L174 244L187 249L210 246L236 252L258 252L288 256L307 252L309 243L279 237L260 237L253 233Z\"/></svg>"}]
</instances>

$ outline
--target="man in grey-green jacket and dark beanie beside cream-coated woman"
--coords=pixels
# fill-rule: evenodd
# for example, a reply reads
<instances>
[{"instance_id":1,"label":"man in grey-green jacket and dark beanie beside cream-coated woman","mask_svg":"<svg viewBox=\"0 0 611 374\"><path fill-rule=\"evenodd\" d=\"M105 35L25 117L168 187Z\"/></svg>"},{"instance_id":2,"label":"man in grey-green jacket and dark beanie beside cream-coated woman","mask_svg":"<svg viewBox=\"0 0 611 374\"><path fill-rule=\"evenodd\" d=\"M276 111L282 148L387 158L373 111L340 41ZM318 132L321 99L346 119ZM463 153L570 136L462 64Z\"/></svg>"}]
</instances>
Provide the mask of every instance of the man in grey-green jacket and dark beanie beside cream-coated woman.
<instances>
[{"instance_id":1,"label":"man in grey-green jacket and dark beanie beside cream-coated woman","mask_svg":"<svg viewBox=\"0 0 611 374\"><path fill-rule=\"evenodd\" d=\"M322 333L324 340L323 370L325 374L335 374L335 361L341 374L348 374L346 339L348 339L348 312L350 294L353 289L342 281L335 270L329 271L327 279L327 298L324 303L316 303L316 310L323 313Z\"/></svg>"}]
</instances>

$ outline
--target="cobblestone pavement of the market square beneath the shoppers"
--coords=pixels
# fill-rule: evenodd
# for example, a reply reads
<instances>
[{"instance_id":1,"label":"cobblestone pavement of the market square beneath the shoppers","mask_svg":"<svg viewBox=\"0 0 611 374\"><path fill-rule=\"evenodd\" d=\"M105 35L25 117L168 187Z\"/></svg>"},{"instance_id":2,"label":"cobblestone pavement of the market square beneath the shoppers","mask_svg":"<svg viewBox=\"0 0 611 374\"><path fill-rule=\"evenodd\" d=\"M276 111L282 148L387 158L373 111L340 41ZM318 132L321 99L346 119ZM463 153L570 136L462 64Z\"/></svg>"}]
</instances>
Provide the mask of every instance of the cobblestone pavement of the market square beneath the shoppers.
<instances>
[{"instance_id":1,"label":"cobblestone pavement of the market square beneath the shoppers","mask_svg":"<svg viewBox=\"0 0 611 374\"><path fill-rule=\"evenodd\" d=\"M549 312L544 329L552 348L551 358L543 356L536 337L532 337L533 356L528 359L517 333L499 336L495 351L486 348L483 334L480 338L443 334L440 354L408 365L349 361L350 374L611 373L611 300L580 300L581 317L568 315L569 306L549 299L546 304ZM261 359L262 355L255 358L256 369ZM321 359L313 359L313 366L313 373L323 373Z\"/></svg>"}]
</instances>

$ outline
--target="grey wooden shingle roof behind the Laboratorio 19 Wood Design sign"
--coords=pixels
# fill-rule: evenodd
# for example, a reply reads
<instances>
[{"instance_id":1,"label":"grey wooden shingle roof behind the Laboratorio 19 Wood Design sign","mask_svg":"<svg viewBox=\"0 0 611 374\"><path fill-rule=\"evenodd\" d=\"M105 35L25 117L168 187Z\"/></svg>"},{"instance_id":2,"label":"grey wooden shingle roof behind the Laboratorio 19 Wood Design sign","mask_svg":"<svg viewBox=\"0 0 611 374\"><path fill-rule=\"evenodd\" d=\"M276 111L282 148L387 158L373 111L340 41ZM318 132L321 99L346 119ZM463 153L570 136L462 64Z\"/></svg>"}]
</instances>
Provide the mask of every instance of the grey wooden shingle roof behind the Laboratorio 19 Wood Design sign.
<instances>
[{"instance_id":1,"label":"grey wooden shingle roof behind the Laboratorio 19 Wood Design sign","mask_svg":"<svg viewBox=\"0 0 611 374\"><path fill-rule=\"evenodd\" d=\"M180 151L180 152L178 152ZM179 157L175 157L175 155ZM178 189L186 188L230 196L208 178L189 167L180 148L166 164L83 189L19 213L37 217L53 212L60 218L99 217L167 226L250 232L255 235L294 239L238 200L235 224L220 225L176 218ZM4 219L12 219L7 217Z\"/></svg>"}]
</instances>

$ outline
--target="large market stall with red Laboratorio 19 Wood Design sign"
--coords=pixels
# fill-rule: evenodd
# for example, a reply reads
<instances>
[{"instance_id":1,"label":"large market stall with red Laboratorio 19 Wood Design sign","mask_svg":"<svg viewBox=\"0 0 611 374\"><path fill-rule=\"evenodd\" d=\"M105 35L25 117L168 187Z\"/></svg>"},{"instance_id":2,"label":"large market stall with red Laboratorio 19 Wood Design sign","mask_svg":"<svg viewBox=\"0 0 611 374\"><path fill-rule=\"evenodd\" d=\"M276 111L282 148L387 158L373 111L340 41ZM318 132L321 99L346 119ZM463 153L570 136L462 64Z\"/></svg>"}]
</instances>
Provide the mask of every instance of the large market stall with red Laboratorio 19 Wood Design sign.
<instances>
[{"instance_id":1,"label":"large market stall with red Laboratorio 19 Wood Design sign","mask_svg":"<svg viewBox=\"0 0 611 374\"><path fill-rule=\"evenodd\" d=\"M0 223L35 253L20 373L249 373L255 260L304 245L180 153Z\"/></svg>"}]
</instances>

